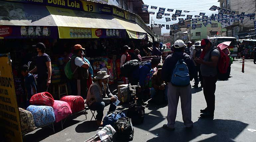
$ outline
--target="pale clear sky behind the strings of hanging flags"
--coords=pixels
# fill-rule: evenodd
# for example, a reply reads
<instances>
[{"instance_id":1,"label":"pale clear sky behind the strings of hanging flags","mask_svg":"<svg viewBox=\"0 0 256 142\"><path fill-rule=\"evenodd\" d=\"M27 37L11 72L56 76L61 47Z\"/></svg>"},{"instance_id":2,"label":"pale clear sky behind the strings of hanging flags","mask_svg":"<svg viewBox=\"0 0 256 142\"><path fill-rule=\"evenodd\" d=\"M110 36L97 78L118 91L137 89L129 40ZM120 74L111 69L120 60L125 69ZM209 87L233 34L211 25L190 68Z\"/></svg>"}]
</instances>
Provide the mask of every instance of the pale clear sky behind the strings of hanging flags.
<instances>
[{"instance_id":1,"label":"pale clear sky behind the strings of hanging flags","mask_svg":"<svg viewBox=\"0 0 256 142\"><path fill-rule=\"evenodd\" d=\"M218 11L210 11L209 8L213 5L219 6L218 0L143 0L144 4L149 5L148 11L155 12L155 15L149 15L150 24L151 17L153 17L153 24L175 24L179 22L178 18L187 18L187 15L193 15L192 18L195 18L194 15L199 15L200 12L205 13L206 16L211 16L211 14L217 14ZM151 6L157 6L156 10L151 9ZM165 13L170 13L169 18L172 19L172 14L176 10L182 10L182 14L185 17L177 17L176 21L166 22L166 16L162 16L162 19L157 19L156 14L159 10L159 7L166 8ZM174 9L173 12L168 12L167 9ZM183 11L190 11L185 13ZM149 24L149 25L150 25ZM162 28L162 33L168 33L170 30L166 29L166 26Z\"/></svg>"}]
</instances>

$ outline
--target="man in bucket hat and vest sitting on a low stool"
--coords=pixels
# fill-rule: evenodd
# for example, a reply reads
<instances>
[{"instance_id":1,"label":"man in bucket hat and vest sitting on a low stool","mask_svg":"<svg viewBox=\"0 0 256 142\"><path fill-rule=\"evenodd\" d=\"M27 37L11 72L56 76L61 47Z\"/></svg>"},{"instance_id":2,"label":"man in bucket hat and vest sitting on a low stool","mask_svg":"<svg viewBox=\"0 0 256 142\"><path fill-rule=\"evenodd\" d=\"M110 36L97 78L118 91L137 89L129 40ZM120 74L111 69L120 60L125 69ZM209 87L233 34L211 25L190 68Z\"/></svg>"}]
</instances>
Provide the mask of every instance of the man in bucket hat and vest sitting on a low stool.
<instances>
[{"instance_id":1,"label":"man in bucket hat and vest sitting on a low stool","mask_svg":"<svg viewBox=\"0 0 256 142\"><path fill-rule=\"evenodd\" d=\"M113 102L117 101L118 98L109 90L109 77L110 75L108 75L106 71L99 71L97 76L94 77L97 81L90 86L86 97L85 103L89 106L89 109L97 111L96 122L98 126L103 125L102 118L105 106L110 104L108 112L112 112L116 109Z\"/></svg>"}]
</instances>

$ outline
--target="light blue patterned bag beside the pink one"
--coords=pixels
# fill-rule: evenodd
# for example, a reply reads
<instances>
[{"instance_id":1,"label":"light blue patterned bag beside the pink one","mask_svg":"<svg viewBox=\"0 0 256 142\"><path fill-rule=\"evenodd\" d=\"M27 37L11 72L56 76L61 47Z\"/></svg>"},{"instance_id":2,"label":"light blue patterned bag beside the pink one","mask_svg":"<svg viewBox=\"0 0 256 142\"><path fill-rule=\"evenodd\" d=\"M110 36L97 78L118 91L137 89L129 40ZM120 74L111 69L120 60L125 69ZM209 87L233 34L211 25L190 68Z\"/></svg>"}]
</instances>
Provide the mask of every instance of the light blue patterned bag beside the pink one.
<instances>
[{"instance_id":1,"label":"light blue patterned bag beside the pink one","mask_svg":"<svg viewBox=\"0 0 256 142\"><path fill-rule=\"evenodd\" d=\"M30 105L27 110L32 113L36 127L55 122L55 114L51 106Z\"/></svg>"}]
</instances>

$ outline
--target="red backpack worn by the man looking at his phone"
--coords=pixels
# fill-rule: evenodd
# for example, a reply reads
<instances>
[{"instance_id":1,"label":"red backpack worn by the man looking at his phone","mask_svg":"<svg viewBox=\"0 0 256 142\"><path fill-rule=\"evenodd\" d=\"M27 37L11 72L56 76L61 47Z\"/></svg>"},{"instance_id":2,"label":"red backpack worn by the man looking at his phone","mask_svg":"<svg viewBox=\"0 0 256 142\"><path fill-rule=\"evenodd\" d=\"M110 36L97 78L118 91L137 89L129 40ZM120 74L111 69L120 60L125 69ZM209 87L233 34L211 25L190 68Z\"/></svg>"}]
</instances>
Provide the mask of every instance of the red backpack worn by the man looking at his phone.
<instances>
[{"instance_id":1,"label":"red backpack worn by the man looking at his phone","mask_svg":"<svg viewBox=\"0 0 256 142\"><path fill-rule=\"evenodd\" d=\"M211 58L211 52L213 50L217 49L220 52L220 58L217 65L217 71L218 71L218 79L219 80L227 80L229 78L228 67L229 67L229 56L225 54L222 50L220 50L219 47L214 47L209 54L209 60Z\"/></svg>"}]
</instances>

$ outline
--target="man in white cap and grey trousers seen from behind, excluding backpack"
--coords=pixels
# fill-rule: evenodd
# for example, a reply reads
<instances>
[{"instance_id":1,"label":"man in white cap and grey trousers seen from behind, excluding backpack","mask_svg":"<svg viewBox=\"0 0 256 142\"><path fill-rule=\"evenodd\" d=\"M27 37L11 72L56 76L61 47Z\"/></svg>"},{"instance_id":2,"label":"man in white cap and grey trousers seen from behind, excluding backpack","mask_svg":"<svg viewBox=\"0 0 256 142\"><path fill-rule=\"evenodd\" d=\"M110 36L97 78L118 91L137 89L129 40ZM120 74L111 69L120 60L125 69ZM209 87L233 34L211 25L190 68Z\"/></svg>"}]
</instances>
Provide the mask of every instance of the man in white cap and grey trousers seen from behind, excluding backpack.
<instances>
[{"instance_id":1,"label":"man in white cap and grey trousers seen from behind, excluding backpack","mask_svg":"<svg viewBox=\"0 0 256 142\"><path fill-rule=\"evenodd\" d=\"M187 86L174 86L171 82L171 77L173 74L173 70L177 64L177 62L181 59L187 64L189 70L190 81L193 79L193 74L195 72L194 63L191 57L184 53L184 42L182 40L177 40L174 43L174 53L168 55L165 59L164 65L162 67L162 79L165 83L168 83L168 115L167 115L167 124L163 125L163 128L168 130L174 130L174 124L177 114L177 106L179 102L179 98L181 97L181 109L182 109L182 117L184 124L187 129L193 127L193 122L191 121L191 85Z\"/></svg>"}]
</instances>

